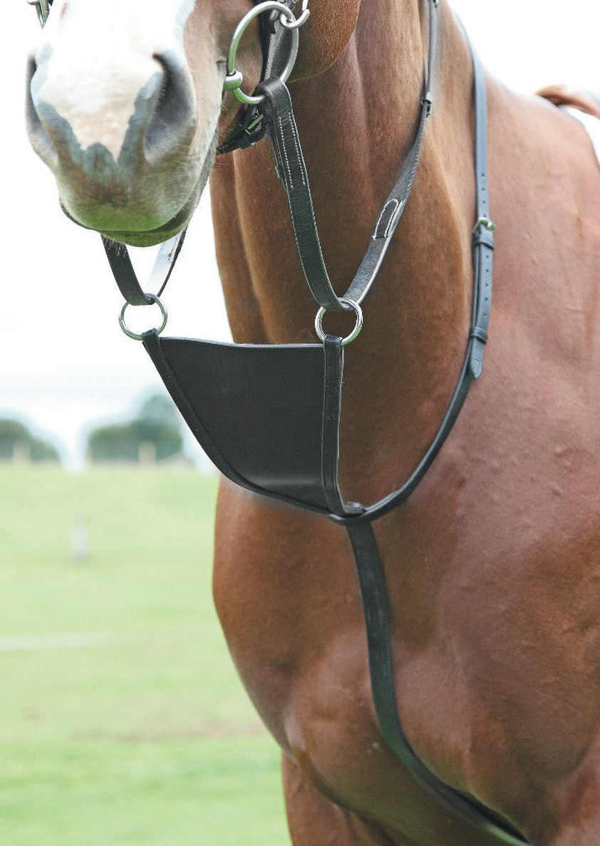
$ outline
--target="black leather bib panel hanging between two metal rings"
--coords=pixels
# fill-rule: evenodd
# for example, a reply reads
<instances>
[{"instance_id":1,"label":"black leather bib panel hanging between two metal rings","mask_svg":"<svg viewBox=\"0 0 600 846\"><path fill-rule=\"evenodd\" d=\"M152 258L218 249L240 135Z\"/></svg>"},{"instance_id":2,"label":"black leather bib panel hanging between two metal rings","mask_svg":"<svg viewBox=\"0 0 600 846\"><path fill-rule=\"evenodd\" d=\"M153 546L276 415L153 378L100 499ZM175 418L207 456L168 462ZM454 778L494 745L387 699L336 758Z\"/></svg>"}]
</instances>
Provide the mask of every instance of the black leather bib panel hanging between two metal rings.
<instances>
[{"instance_id":1,"label":"black leather bib panel hanging between two metal rings","mask_svg":"<svg viewBox=\"0 0 600 846\"><path fill-rule=\"evenodd\" d=\"M329 390L332 374L322 344L212 343L147 332L144 346L196 440L224 475L252 491L330 514L323 486L328 475L337 483L339 409L332 426L325 403L326 371ZM341 391L341 366L337 382L335 393ZM322 442L324 428L329 444Z\"/></svg>"}]
</instances>

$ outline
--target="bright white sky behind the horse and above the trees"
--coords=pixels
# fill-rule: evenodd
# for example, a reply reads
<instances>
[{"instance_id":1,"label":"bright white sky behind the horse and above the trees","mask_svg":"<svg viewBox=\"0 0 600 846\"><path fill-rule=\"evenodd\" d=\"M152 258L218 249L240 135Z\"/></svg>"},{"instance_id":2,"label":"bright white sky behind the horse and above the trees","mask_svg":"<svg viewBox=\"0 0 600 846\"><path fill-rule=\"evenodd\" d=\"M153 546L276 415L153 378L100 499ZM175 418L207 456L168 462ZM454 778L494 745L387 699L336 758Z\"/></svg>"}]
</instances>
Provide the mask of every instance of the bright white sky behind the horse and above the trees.
<instances>
[{"instance_id":1,"label":"bright white sky behind the horse and above the trees","mask_svg":"<svg viewBox=\"0 0 600 846\"><path fill-rule=\"evenodd\" d=\"M530 92L562 82L600 90L600 0L451 5L487 68L511 87ZM38 33L25 0L3 0L0 416L18 415L46 432L76 464L85 426L128 414L158 381L144 350L118 328L122 300L99 237L63 217L52 175L30 151L25 60ZM165 301L169 334L228 337L207 195Z\"/></svg>"}]
</instances>

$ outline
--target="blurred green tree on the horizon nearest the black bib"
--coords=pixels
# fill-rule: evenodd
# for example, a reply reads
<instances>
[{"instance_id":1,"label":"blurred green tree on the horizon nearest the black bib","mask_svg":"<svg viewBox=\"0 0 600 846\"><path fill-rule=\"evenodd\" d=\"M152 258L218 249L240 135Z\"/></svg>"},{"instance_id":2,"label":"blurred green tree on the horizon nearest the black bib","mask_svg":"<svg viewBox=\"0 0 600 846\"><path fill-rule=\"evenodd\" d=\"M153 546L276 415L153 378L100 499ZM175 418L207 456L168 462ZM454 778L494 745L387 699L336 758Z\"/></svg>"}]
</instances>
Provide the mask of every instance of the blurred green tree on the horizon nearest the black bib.
<instances>
[{"instance_id":1,"label":"blurred green tree on the horizon nearest the black bib","mask_svg":"<svg viewBox=\"0 0 600 846\"><path fill-rule=\"evenodd\" d=\"M177 411L170 399L156 394L141 404L129 423L99 426L91 431L86 454L92 462L161 461L179 455L183 437Z\"/></svg>"}]
</instances>

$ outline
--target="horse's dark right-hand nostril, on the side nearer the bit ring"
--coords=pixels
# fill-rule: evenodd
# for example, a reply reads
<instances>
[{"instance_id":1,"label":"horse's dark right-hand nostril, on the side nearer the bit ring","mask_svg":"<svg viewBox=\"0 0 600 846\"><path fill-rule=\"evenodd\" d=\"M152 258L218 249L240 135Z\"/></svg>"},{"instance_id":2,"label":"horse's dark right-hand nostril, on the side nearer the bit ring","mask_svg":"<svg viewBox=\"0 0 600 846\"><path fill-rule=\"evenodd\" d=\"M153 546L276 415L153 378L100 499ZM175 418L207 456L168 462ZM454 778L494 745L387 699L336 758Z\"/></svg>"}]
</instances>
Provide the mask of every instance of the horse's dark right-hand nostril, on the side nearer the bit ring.
<instances>
[{"instance_id":1,"label":"horse's dark right-hand nostril, on the side nearer the bit ring","mask_svg":"<svg viewBox=\"0 0 600 846\"><path fill-rule=\"evenodd\" d=\"M162 68L162 84L144 136L149 161L185 150L195 121L195 94L187 65L173 51L153 58Z\"/></svg>"}]
</instances>

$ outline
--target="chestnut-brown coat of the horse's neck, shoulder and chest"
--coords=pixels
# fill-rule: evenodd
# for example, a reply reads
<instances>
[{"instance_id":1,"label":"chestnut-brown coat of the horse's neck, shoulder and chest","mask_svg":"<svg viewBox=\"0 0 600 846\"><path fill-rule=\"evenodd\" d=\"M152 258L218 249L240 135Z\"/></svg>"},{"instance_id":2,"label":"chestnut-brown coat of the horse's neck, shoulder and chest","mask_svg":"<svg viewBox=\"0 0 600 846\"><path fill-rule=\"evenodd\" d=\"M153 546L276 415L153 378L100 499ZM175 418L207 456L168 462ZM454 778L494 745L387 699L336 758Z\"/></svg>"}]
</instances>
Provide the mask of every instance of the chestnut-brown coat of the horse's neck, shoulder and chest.
<instances>
[{"instance_id":1,"label":"chestnut-brown coat of the horse's neck, shoulder and chest","mask_svg":"<svg viewBox=\"0 0 600 846\"><path fill-rule=\"evenodd\" d=\"M390 5L362 8L333 69L291 88L339 292L413 131L419 21L400 3L403 26L383 44ZM342 470L344 491L361 501L408 475L464 349L471 70L444 6L441 43L415 195L348 354ZM402 73L390 91L381 80L394 64ZM489 110L498 236L484 376L421 488L376 526L396 690L410 742L441 777L535 843L592 846L600 175L583 129L547 103L490 80ZM269 156L259 146L213 173L223 286L236 339L306 340L313 305ZM231 250L232 223L244 250ZM383 748L343 530L224 482L215 596L239 672L284 750L294 843L491 842L432 806Z\"/></svg>"}]
</instances>

